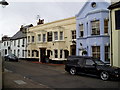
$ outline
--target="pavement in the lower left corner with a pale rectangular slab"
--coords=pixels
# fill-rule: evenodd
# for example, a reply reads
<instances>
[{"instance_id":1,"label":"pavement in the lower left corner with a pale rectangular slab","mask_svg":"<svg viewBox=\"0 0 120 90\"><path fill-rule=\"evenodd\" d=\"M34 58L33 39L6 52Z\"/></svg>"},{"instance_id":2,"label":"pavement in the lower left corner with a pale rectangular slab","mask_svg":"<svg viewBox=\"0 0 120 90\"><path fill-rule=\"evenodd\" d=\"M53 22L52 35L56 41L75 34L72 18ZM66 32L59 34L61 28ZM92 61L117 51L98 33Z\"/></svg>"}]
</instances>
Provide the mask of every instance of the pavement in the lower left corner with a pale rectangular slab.
<instances>
[{"instance_id":1,"label":"pavement in the lower left corner with a pale rectangular slab","mask_svg":"<svg viewBox=\"0 0 120 90\"><path fill-rule=\"evenodd\" d=\"M34 82L20 74L13 73L7 69L3 72L3 89L5 88L48 88L47 86Z\"/></svg>"}]
</instances>

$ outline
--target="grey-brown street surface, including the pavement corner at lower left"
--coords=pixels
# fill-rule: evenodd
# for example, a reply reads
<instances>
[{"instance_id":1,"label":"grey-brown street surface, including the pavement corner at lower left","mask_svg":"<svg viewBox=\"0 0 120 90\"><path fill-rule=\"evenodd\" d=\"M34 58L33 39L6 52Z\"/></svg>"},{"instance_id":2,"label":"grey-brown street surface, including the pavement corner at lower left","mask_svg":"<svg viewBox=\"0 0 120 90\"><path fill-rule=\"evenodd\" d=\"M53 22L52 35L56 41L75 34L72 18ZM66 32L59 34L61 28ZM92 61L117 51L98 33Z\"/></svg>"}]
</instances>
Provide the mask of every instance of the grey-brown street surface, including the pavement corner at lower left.
<instances>
[{"instance_id":1,"label":"grey-brown street surface, including the pavement corner at lower left","mask_svg":"<svg viewBox=\"0 0 120 90\"><path fill-rule=\"evenodd\" d=\"M91 76L69 75L64 70L64 65L21 60L5 61L4 68L4 88L120 88L120 82L116 80L102 81Z\"/></svg>"}]
</instances>

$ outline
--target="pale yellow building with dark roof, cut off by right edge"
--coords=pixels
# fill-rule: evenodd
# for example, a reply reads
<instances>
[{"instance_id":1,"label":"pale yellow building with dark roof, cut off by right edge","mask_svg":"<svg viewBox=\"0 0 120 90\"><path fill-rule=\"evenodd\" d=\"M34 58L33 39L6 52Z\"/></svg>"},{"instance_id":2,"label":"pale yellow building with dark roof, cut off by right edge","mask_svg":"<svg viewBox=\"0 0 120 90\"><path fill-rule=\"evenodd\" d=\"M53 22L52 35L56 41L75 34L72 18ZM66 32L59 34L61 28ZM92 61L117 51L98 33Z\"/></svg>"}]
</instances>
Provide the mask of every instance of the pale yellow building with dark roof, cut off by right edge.
<instances>
[{"instance_id":1,"label":"pale yellow building with dark roof, cut off by right edge","mask_svg":"<svg viewBox=\"0 0 120 90\"><path fill-rule=\"evenodd\" d=\"M109 6L111 22L111 65L120 67L120 2Z\"/></svg>"}]
</instances>

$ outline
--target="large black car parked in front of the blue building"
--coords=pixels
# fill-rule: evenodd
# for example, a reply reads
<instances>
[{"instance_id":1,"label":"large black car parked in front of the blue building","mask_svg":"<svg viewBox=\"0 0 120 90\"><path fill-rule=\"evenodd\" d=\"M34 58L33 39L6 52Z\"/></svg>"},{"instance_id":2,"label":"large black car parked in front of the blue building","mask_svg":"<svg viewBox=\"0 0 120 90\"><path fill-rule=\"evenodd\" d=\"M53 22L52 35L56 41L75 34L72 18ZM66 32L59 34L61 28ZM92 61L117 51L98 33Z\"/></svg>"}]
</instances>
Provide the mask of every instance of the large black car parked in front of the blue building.
<instances>
[{"instance_id":1,"label":"large black car parked in front of the blue building","mask_svg":"<svg viewBox=\"0 0 120 90\"><path fill-rule=\"evenodd\" d=\"M120 68L111 67L101 60L89 56L69 56L65 63L65 70L71 75L95 75L102 80L120 78Z\"/></svg>"}]
</instances>

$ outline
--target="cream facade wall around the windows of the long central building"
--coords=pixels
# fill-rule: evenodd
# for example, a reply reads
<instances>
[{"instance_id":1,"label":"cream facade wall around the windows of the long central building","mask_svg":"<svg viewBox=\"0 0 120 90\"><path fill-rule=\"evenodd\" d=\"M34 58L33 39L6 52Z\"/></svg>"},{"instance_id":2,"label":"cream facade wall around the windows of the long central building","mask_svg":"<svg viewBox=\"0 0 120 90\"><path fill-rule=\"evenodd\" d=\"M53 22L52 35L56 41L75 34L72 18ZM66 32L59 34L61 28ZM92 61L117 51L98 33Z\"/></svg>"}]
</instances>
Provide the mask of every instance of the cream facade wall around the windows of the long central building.
<instances>
[{"instance_id":1,"label":"cream facade wall around the windows of the long central building","mask_svg":"<svg viewBox=\"0 0 120 90\"><path fill-rule=\"evenodd\" d=\"M27 50L30 50L30 56L28 58L37 58L41 59L41 49L46 49L46 55L50 50L50 59L56 60L56 61L63 61L66 60L65 58L65 50L69 52L69 55L71 55L71 45L73 45L72 41L76 39L72 39L72 31L76 32L76 21L75 17L59 20L43 25L38 25L35 27L32 27L28 31L27 40L28 37L30 37L30 42L28 42ZM47 33L52 33L52 41L48 41L48 35ZM55 32L58 33L58 40L55 40ZM60 40L60 33L63 32L62 40ZM38 35L41 35L41 41L38 41ZM45 34L45 42L43 42L43 34ZM32 42L32 36L34 36L35 41ZM75 37L76 38L76 37ZM36 57L36 52L34 52L34 55L32 56L32 51L37 50L38 56ZM57 57L55 57L55 50L57 50ZM61 50L61 51L60 51ZM76 50L74 50L75 52ZM62 53L62 57L60 57L60 52Z\"/></svg>"}]
</instances>

